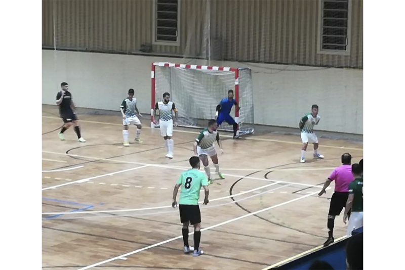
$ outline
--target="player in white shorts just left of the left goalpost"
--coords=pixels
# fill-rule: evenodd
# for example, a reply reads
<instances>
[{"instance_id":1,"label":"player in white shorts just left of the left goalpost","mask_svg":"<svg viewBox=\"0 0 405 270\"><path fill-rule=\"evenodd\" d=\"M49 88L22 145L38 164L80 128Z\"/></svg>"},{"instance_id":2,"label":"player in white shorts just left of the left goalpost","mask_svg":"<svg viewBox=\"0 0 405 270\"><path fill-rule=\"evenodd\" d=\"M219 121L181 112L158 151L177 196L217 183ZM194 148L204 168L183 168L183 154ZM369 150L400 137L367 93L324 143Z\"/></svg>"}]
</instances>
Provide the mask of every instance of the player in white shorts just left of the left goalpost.
<instances>
[{"instance_id":1,"label":"player in white shorts just left of the left goalpost","mask_svg":"<svg viewBox=\"0 0 405 270\"><path fill-rule=\"evenodd\" d=\"M138 117L135 115L135 112L139 114L139 116L142 117L142 114L138 111L138 108L136 107L136 99L134 98L135 91L134 89L129 89L128 90L128 98L123 100L123 103L121 103L121 106L119 110L121 111L121 114L123 114L123 137L124 137L124 146L129 146L130 143L128 142L128 137L129 137L129 131L128 131L128 125L134 124L136 125L136 137L135 137L135 142L141 143L139 140L139 136L141 134L141 121L139 121Z\"/></svg>"}]
</instances>

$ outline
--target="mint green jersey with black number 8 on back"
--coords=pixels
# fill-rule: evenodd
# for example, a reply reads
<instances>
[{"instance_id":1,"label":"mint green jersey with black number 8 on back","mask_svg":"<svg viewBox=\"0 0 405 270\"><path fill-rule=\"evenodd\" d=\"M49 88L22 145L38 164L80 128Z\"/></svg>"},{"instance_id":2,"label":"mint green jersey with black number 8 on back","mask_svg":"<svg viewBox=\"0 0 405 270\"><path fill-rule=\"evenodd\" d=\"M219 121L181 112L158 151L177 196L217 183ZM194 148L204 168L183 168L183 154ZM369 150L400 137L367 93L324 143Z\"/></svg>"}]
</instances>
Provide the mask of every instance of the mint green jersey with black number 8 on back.
<instances>
[{"instance_id":1,"label":"mint green jersey with black number 8 on back","mask_svg":"<svg viewBox=\"0 0 405 270\"><path fill-rule=\"evenodd\" d=\"M179 204L198 205L201 187L208 186L208 179L205 173L189 169L180 174L177 185L181 187Z\"/></svg>"}]
</instances>

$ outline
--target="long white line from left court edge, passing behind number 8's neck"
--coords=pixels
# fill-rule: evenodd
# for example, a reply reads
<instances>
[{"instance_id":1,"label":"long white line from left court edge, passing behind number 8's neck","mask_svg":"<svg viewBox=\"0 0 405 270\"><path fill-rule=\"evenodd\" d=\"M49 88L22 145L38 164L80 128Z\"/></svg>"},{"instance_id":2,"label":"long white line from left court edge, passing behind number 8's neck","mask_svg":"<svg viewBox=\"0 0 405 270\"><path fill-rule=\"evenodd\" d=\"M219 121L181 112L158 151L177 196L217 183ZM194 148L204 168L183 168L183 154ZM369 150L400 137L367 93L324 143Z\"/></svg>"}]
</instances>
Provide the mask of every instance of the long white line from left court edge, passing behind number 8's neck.
<instances>
[{"instance_id":1,"label":"long white line from left court edge, passing behind number 8's neck","mask_svg":"<svg viewBox=\"0 0 405 270\"><path fill-rule=\"evenodd\" d=\"M89 158L89 159L95 159L95 160L105 160L105 161L113 161L113 162L118 162L118 163L137 164L137 165L145 165L145 166L159 167L159 168L167 168L167 169L176 169L176 170L188 169L188 168L185 168L185 167L166 166L166 165L160 165L160 164L150 164L150 163L123 161L123 160L116 160L116 159L96 158L96 157L88 157L88 156L81 156L81 155L72 155L72 154L66 154L66 153L57 153L57 152L44 151L44 150L43 150L42 152L48 153L48 154L55 154L55 155L72 156L72 157L82 157L82 158ZM277 181L277 182L280 182L280 183L294 184L294 185L300 185L300 186L305 186L305 187L318 187L317 185L312 185L312 184L294 183L294 182L287 182L287 181L278 181L278 180L264 179L264 178L258 178L258 177L252 177L252 176L245 176L245 175L234 175L234 174L226 174L226 173L223 173L223 175L225 175L225 176L231 176L231 177L237 177L237 178L246 178L246 179L259 180L259 181L267 181L267 182L274 182L274 181Z\"/></svg>"}]
</instances>

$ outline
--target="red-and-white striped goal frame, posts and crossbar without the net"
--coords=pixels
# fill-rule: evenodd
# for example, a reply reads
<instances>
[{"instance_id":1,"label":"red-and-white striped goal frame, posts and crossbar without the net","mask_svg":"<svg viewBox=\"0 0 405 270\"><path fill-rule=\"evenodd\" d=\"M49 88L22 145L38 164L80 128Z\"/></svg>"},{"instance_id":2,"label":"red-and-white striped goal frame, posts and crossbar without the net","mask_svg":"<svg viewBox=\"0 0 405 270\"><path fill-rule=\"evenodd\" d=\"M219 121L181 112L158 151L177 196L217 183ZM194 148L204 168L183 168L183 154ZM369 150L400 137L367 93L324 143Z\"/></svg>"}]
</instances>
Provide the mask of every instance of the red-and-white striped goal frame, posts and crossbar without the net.
<instances>
[{"instance_id":1,"label":"red-and-white striped goal frame, posts and crossbar without the net","mask_svg":"<svg viewBox=\"0 0 405 270\"><path fill-rule=\"evenodd\" d=\"M206 72L208 72L208 71L232 72L233 73L233 82L230 81L230 76L231 75L229 73L227 75L228 76L227 77L227 79L228 79L227 85L229 85L227 90L232 89L234 91L234 99L238 104L238 105L234 106L235 107L234 108L234 116L235 116L234 119L235 119L236 123L238 123L237 134L239 134L239 131L240 131L239 130L239 125L241 124L239 122L240 121L240 118L239 118L239 104L240 104L240 102L239 102L240 101L239 82L240 82L240 77L239 77L239 75L240 75L240 70L249 70L249 74L250 74L249 80L250 80L250 83L251 83L251 72L250 72L249 68L230 68L230 67L218 67L218 66L174 64L174 63L168 63L168 62L154 62L154 63L152 63L152 65L151 65L151 107L150 107L151 108L150 121L151 121L151 127L152 128L155 127L155 125L153 123L154 107L155 107L156 102L160 101L160 99L161 99L161 97L160 97L160 99L158 99L158 97L156 97L156 87L157 87L156 86L156 69L159 68L159 67L161 67L161 68L179 68L179 69L185 69L185 70L187 70L187 69L188 70L199 70L199 71L206 71ZM233 84L232 85L233 87L230 87L231 86L230 83ZM158 91L158 92L161 92L161 91ZM164 92L169 92L171 94L171 98L173 97L171 91L164 91ZM251 89L250 89L250 92L252 92ZM160 93L160 94L163 94L163 93ZM251 124L253 124L253 93L249 93L249 94L251 94L251 96L252 96L249 99L249 100L251 100L252 104L248 105L247 107L249 109L251 109L251 111L252 111L252 116L251 116L251 118L252 118L251 122L252 123ZM223 94L220 94L220 95L221 95L221 99L226 97L226 95L223 95ZM216 105L219 104L221 99L216 100ZM172 101L173 101L173 99L172 99ZM178 103L175 102L175 104L177 105ZM212 112L212 114L215 115L215 109ZM213 116L206 117L206 118L211 119L211 118L213 118ZM204 119L204 120L208 120L208 119ZM203 119L200 119L200 120L203 120ZM201 128L201 127L206 127L206 121L205 121L204 124L200 124L200 125L197 125L197 124L195 124L195 125L194 124L193 125L190 125L190 124L181 125L181 124L179 124L179 125L184 126L184 127ZM223 130L231 131L231 129L229 129L229 128L228 129L223 129ZM249 128L249 131L242 132L242 133L253 133L253 128Z\"/></svg>"}]
</instances>

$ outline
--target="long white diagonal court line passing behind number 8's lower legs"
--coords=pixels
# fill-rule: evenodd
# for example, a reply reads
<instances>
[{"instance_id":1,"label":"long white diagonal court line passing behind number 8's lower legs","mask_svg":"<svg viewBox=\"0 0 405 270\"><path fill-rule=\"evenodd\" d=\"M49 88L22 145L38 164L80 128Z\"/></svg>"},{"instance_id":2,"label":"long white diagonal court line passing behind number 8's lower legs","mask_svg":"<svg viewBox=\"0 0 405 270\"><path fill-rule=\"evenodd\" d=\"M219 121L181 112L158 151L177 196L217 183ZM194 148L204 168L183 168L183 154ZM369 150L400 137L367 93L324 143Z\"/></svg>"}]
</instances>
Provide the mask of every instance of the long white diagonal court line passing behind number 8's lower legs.
<instances>
[{"instance_id":1,"label":"long white diagonal court line passing behind number 8's lower legs","mask_svg":"<svg viewBox=\"0 0 405 270\"><path fill-rule=\"evenodd\" d=\"M264 209L255 211L255 212L251 212L251 213L248 213L248 214L245 214L245 215L236 217L236 218L232 218L232 219L226 220L226 221L224 221L224 222L215 224L215 225L213 225L213 226L210 226L210 227L201 229L200 231L201 231L201 232L208 231L208 230L211 230L211 229L220 227L220 226L225 225L225 224L227 224L227 223L234 222L234 221L237 221L237 220L239 220L239 219L242 219L242 218L245 218L245 217L248 217L248 216L256 215L256 214L259 214L259 213L264 212L264 211L268 211L268 210L273 209L273 208L276 208L276 207L280 207L280 206L283 206L283 205L286 205L286 204L289 204L289 203L292 203L292 202L295 202L295 201L298 201L298 200L305 199L305 198L307 198L307 197L309 197L309 196L312 196L312 195L314 195L314 194L316 194L316 193L317 193L317 192L313 192L312 194L304 195L304 196L295 198L295 199L290 200L290 201L287 201L287 202L279 203L279 204L276 204L276 205L273 205L273 206L270 206L270 207L267 207L267 208L264 208ZM188 235L193 235L193 234L194 234L194 232L189 233ZM110 259L107 259L107 260L104 260L104 261L101 261L101 262L97 262L97 263L88 265L88 266L83 267L83 268L80 268L80 269L78 269L78 270L90 269L90 268L93 268L93 267L96 267L96 266L105 264L105 263L110 262L110 261L113 261L113 260L117 260L117 259L120 259L120 258L125 258L125 257L128 257L128 256L130 256L130 255L139 253L139 252L141 252L141 251L148 250L148 249L151 249L151 248L154 248L154 247L157 247L157 246L161 246L161 245L167 244L167 243L169 243L169 242L172 242L172 241L175 241L175 240L181 239L181 238L183 238L182 235L177 236L177 237L174 237L174 238L171 238L171 239L168 239L168 240L165 240L165 241L162 241L162 242L159 242L159 243L156 243L156 244L153 244L153 245L150 245L150 246L147 246L147 247L144 247L144 248L140 248L140 249L137 249L137 250L128 252L128 253L126 253L126 254L122 254L122 255L119 255L119 256L116 256L116 257L113 257L113 258L110 258Z\"/></svg>"}]
</instances>

